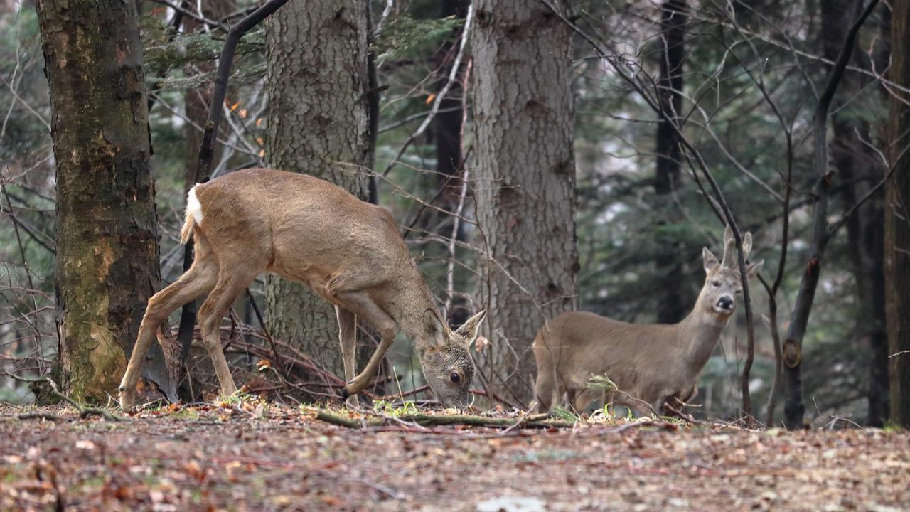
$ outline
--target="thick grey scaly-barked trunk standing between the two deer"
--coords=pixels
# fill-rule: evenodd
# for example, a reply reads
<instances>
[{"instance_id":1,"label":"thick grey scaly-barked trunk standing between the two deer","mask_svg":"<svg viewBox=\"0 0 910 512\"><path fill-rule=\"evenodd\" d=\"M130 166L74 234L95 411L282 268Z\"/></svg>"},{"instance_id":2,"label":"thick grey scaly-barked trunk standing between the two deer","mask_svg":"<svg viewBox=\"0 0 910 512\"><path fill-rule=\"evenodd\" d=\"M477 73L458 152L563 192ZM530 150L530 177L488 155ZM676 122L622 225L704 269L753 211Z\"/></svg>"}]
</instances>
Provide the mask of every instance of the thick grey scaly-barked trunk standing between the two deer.
<instances>
[{"instance_id":1,"label":"thick grey scaly-barked trunk standing between the two deer","mask_svg":"<svg viewBox=\"0 0 910 512\"><path fill-rule=\"evenodd\" d=\"M475 197L491 342L480 378L527 402L534 334L576 297L571 28L536 0L476 9Z\"/></svg>"}]
</instances>

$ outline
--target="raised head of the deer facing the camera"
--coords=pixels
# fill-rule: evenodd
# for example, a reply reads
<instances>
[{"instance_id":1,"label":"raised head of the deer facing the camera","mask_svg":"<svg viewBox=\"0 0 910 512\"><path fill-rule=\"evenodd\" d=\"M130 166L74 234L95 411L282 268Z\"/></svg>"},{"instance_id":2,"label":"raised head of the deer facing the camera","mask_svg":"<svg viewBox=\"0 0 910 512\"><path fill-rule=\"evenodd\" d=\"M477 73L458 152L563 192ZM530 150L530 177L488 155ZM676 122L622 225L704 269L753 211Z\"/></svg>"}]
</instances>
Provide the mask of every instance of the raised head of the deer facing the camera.
<instances>
[{"instance_id":1,"label":"raised head of the deer facing the camera","mask_svg":"<svg viewBox=\"0 0 910 512\"><path fill-rule=\"evenodd\" d=\"M743 258L749 258L752 251L752 233L743 235ZM707 247L702 249L704 261L704 286L698 296L696 310L708 312L723 319L728 318L736 309L736 297L743 293L743 282L740 276L739 263L736 256L736 241L733 239L733 230L730 226L723 231L723 259L718 262ZM749 279L755 277L761 270L764 261L756 261L746 265Z\"/></svg>"}]
</instances>

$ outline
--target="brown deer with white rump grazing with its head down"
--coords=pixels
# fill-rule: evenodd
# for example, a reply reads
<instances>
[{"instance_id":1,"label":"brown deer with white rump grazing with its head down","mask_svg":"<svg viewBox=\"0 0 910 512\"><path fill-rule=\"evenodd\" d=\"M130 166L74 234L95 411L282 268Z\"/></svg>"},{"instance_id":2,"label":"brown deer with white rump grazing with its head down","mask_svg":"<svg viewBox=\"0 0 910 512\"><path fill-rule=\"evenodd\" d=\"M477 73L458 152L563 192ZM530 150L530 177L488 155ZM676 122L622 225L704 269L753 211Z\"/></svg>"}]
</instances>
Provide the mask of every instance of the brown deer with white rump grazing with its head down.
<instances>
[{"instance_id":1,"label":"brown deer with white rump grazing with its head down","mask_svg":"<svg viewBox=\"0 0 910 512\"><path fill-rule=\"evenodd\" d=\"M199 308L202 343L221 394L237 388L221 351L218 327L238 294L263 271L307 284L335 305L348 384L366 388L399 330L414 342L430 389L445 405L465 406L474 362L468 347L483 312L458 331L442 321L389 211L322 179L274 169L232 172L190 189L181 242L196 241L193 265L148 300L136 345L120 383L120 406L136 401L136 382L157 326L183 304L208 294ZM381 341L354 376L357 319Z\"/></svg>"}]
</instances>

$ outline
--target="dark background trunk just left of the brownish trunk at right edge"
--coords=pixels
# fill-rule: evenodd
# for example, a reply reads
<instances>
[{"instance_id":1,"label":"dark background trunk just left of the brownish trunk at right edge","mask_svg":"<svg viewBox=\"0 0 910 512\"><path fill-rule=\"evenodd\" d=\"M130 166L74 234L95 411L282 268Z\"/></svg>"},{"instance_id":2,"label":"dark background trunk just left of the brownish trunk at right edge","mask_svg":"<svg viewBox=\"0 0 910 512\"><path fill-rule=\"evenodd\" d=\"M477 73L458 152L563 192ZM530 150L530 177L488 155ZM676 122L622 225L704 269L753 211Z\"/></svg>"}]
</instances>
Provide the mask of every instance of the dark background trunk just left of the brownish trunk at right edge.
<instances>
[{"instance_id":1,"label":"dark background trunk just left of the brownish trunk at right edge","mask_svg":"<svg viewBox=\"0 0 910 512\"><path fill-rule=\"evenodd\" d=\"M837 58L842 45L842 36L850 29L859 15L861 5L852 0L822 2L822 45L825 58ZM858 45L852 48L854 60L864 67L864 52ZM856 102L861 96L867 80L860 75L844 77L844 94L841 98ZM834 138L831 141L831 155L839 181L844 183L842 195L843 210L846 212L869 189L875 186L885 174L875 152L863 143L860 137L869 140L869 123L856 110L863 105L843 108L836 105L831 119ZM885 333L885 276L883 238L885 212L883 210L884 190L875 194L854 211L846 221L847 247L850 251L851 272L856 282L856 296L859 312L854 327L857 343L868 346L869 383L866 397L869 404L867 423L882 426L887 416L887 336Z\"/></svg>"}]
</instances>

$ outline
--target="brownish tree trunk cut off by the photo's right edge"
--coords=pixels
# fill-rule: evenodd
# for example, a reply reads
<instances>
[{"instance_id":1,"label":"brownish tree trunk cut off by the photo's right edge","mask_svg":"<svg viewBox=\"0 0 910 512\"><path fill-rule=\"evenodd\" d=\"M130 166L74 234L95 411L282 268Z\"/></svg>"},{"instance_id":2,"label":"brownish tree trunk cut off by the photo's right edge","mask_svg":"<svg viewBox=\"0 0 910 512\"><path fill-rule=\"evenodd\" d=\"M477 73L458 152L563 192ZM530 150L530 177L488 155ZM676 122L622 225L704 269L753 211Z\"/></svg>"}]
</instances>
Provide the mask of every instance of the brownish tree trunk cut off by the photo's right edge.
<instances>
[{"instance_id":1,"label":"brownish tree trunk cut off by the photo's right edge","mask_svg":"<svg viewBox=\"0 0 910 512\"><path fill-rule=\"evenodd\" d=\"M910 87L910 0L896 0L891 15L891 79ZM888 129L895 173L885 185L885 311L888 325L888 381L891 423L910 427L910 95L892 90Z\"/></svg>"}]
</instances>

